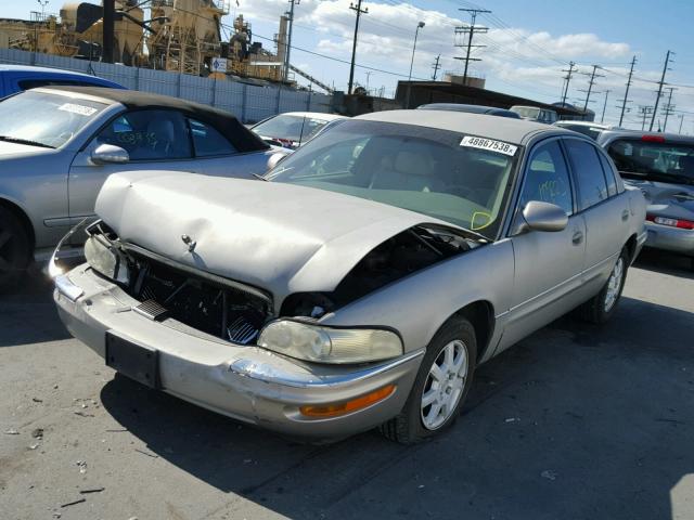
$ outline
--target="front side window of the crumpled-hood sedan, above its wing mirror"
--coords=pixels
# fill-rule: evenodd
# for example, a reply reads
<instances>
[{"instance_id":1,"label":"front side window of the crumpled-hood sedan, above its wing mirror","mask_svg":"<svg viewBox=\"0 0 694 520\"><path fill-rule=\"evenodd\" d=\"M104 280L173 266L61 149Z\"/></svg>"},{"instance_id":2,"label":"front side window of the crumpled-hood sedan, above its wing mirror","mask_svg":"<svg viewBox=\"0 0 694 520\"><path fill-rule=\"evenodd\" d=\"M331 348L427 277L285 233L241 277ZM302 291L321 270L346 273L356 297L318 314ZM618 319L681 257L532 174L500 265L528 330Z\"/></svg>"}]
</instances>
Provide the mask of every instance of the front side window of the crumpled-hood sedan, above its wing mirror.
<instances>
[{"instance_id":1,"label":"front side window of the crumpled-hood sedan, above its wing mirror","mask_svg":"<svg viewBox=\"0 0 694 520\"><path fill-rule=\"evenodd\" d=\"M530 155L520 209L530 200L555 204L569 216L574 212L568 168L557 141L536 147Z\"/></svg>"}]
</instances>

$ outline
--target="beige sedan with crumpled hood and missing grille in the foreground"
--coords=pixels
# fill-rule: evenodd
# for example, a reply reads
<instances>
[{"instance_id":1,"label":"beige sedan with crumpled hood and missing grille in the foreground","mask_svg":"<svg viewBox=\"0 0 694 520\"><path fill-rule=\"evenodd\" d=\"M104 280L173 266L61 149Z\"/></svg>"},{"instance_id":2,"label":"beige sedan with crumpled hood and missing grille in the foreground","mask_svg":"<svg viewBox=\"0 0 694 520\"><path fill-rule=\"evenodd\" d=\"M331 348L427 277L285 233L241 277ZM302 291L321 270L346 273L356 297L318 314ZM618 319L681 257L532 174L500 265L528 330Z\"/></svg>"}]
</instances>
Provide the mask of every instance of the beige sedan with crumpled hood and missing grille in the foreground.
<instances>
[{"instance_id":1,"label":"beige sedan with crumpled hood and missing grille in the foreground","mask_svg":"<svg viewBox=\"0 0 694 520\"><path fill-rule=\"evenodd\" d=\"M520 120L359 116L268 178L113 174L55 301L124 375L305 439L440 431L479 363L608 320L645 239L602 148Z\"/></svg>"}]
</instances>

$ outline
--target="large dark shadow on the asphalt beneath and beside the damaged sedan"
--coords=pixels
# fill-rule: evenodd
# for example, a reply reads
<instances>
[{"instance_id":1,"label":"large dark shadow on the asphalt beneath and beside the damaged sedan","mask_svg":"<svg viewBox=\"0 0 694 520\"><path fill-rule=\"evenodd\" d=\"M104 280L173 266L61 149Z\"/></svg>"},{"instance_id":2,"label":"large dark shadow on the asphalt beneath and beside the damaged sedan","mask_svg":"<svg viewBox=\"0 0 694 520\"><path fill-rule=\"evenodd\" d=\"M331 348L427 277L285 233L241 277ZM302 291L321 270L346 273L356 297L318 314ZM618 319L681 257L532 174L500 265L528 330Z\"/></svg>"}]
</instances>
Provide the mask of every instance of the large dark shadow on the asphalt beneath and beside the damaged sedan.
<instances>
[{"instance_id":1,"label":"large dark shadow on the asphalt beneath and beside the damaged sedan","mask_svg":"<svg viewBox=\"0 0 694 520\"><path fill-rule=\"evenodd\" d=\"M562 318L481 366L463 417L415 446L296 444L119 376L101 399L158 456L290 518L671 518L694 472L693 324L629 298L604 327Z\"/></svg>"}]
</instances>

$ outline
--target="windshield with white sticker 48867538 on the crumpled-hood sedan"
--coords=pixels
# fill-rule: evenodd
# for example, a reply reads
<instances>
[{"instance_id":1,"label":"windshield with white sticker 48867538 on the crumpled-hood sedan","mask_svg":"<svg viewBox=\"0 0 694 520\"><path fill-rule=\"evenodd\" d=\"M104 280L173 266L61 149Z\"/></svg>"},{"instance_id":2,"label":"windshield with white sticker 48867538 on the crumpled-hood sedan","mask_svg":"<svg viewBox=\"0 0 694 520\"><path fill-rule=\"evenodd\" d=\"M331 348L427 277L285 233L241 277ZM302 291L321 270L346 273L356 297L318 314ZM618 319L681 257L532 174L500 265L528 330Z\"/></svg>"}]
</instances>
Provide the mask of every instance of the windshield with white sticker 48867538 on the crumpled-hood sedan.
<instances>
[{"instance_id":1,"label":"windshield with white sticker 48867538 on the crumpled-hood sedan","mask_svg":"<svg viewBox=\"0 0 694 520\"><path fill-rule=\"evenodd\" d=\"M352 120L283 159L270 179L417 211L493 239L515 155L517 146L500 141Z\"/></svg>"}]
</instances>

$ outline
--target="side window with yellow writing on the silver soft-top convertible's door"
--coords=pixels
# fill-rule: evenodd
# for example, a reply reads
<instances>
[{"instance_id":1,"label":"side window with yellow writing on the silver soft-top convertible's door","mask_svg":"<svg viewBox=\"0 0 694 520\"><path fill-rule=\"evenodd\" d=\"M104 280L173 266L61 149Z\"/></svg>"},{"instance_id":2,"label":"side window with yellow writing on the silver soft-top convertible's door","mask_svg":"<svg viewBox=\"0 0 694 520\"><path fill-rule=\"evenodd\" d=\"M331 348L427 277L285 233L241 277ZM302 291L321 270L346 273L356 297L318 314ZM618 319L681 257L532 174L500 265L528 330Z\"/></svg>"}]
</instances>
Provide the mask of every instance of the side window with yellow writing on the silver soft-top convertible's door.
<instances>
[{"instance_id":1,"label":"side window with yellow writing on the silver soft-top convertible's door","mask_svg":"<svg viewBox=\"0 0 694 520\"><path fill-rule=\"evenodd\" d=\"M185 119L175 110L128 112L97 135L97 143L120 146L130 160L191 158Z\"/></svg>"}]
</instances>

